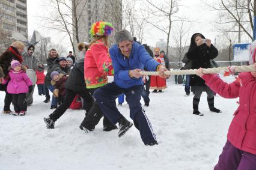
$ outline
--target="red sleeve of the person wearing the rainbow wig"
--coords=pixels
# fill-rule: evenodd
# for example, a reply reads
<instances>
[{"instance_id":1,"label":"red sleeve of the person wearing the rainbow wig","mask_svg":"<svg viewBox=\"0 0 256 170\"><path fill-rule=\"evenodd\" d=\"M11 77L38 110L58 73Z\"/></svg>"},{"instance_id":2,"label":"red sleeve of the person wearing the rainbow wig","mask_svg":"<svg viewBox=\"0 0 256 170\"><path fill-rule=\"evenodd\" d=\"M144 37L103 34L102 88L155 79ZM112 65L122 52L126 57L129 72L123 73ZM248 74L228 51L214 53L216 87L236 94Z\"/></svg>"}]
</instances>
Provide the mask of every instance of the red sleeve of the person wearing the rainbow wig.
<instances>
[{"instance_id":1,"label":"red sleeve of the person wearing the rainbow wig","mask_svg":"<svg viewBox=\"0 0 256 170\"><path fill-rule=\"evenodd\" d=\"M113 75L114 69L108 53L108 49L103 43L96 43L91 46L91 53L97 64L98 70L105 75Z\"/></svg>"}]
</instances>

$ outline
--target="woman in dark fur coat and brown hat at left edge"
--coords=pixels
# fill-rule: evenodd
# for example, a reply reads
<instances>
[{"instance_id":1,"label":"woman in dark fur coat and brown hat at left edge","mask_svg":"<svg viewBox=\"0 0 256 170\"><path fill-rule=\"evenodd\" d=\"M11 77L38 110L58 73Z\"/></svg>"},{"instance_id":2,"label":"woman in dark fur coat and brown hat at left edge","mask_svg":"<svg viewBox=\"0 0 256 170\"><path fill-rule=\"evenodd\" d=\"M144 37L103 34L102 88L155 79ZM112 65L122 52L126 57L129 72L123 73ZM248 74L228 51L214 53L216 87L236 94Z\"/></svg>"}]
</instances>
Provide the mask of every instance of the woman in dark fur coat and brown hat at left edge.
<instances>
[{"instance_id":1,"label":"woman in dark fur coat and brown hat at left edge","mask_svg":"<svg viewBox=\"0 0 256 170\"><path fill-rule=\"evenodd\" d=\"M11 44L11 46L5 50L2 55L0 55L0 91L5 91L4 98L4 114L10 114L10 105L11 105L11 94L7 93L8 85L8 67L11 65L13 59L22 63L22 56L20 55L25 48L25 45L16 41ZM22 68L25 69L25 68Z\"/></svg>"}]
</instances>

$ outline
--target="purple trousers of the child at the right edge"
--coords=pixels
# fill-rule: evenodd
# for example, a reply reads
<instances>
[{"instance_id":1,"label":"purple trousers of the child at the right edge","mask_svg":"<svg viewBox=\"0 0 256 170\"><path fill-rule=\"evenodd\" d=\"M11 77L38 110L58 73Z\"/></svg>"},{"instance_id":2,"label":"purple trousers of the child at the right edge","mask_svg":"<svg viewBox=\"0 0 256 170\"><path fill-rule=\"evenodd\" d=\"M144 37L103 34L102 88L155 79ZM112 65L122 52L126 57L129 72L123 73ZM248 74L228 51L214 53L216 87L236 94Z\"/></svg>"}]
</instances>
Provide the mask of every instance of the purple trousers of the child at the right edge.
<instances>
[{"instance_id":1,"label":"purple trousers of the child at the right edge","mask_svg":"<svg viewBox=\"0 0 256 170\"><path fill-rule=\"evenodd\" d=\"M214 170L255 170L256 155L235 148L228 140Z\"/></svg>"}]
</instances>

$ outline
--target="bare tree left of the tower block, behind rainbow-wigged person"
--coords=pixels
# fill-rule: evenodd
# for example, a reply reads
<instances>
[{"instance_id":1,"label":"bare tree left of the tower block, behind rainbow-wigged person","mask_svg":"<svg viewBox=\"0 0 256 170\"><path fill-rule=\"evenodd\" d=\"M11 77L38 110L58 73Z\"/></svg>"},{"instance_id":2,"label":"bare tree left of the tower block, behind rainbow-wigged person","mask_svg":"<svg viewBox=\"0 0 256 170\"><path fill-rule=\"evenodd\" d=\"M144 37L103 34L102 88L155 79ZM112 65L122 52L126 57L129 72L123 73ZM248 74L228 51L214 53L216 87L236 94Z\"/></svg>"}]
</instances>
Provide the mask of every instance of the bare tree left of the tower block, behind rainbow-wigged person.
<instances>
[{"instance_id":1,"label":"bare tree left of the tower block, behind rainbow-wigged person","mask_svg":"<svg viewBox=\"0 0 256 170\"><path fill-rule=\"evenodd\" d=\"M46 22L45 28L56 29L59 32L66 32L69 36L75 53L75 45L73 37L79 42L79 27L81 20L84 17L84 9L87 1L84 0L47 0L47 4L51 7L48 14L41 16L41 19Z\"/></svg>"}]
</instances>

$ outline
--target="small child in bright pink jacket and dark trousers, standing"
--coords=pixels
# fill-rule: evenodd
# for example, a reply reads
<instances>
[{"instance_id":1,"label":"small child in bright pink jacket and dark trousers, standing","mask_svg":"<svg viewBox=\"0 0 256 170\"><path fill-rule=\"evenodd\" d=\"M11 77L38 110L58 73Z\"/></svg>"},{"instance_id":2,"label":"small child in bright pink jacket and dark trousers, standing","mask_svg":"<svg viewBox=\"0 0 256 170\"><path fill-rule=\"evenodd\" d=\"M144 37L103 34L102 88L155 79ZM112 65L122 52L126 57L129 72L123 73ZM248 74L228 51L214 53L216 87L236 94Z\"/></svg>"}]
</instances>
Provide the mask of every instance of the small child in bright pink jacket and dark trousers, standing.
<instances>
[{"instance_id":1,"label":"small child in bright pink jacket and dark trousers, standing","mask_svg":"<svg viewBox=\"0 0 256 170\"><path fill-rule=\"evenodd\" d=\"M7 85L8 93L12 94L12 102L14 105L13 115L26 114L26 93L32 91L32 82L26 73L21 70L20 62L11 61L11 70L9 71L10 81Z\"/></svg>"}]
</instances>

